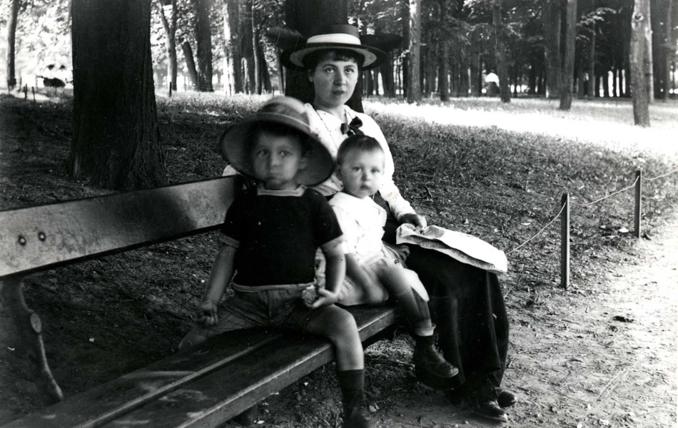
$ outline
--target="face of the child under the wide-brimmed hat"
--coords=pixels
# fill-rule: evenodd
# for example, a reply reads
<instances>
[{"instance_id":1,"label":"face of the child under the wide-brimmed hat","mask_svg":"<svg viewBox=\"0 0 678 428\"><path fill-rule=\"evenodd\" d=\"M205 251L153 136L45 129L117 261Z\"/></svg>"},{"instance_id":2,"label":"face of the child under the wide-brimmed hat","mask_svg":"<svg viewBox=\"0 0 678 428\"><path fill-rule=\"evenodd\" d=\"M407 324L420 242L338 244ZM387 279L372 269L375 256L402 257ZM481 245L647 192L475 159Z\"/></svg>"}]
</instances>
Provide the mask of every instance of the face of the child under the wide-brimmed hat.
<instances>
[{"instance_id":1,"label":"face of the child under the wide-brimmed hat","mask_svg":"<svg viewBox=\"0 0 678 428\"><path fill-rule=\"evenodd\" d=\"M252 146L254 176L270 190L294 190L297 171L305 167L305 158L297 136L278 136L261 131Z\"/></svg>"}]
</instances>

